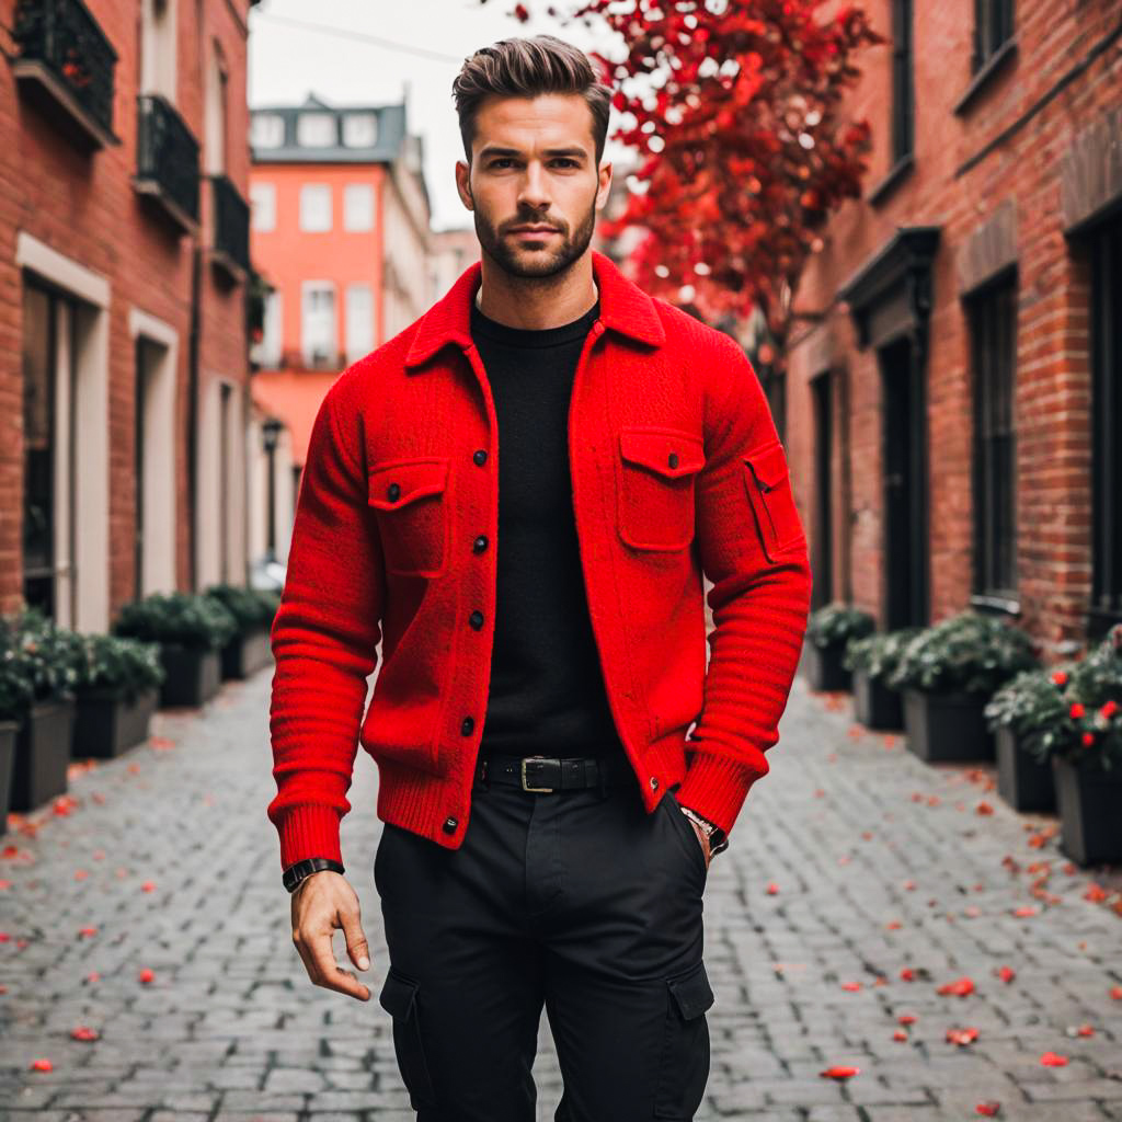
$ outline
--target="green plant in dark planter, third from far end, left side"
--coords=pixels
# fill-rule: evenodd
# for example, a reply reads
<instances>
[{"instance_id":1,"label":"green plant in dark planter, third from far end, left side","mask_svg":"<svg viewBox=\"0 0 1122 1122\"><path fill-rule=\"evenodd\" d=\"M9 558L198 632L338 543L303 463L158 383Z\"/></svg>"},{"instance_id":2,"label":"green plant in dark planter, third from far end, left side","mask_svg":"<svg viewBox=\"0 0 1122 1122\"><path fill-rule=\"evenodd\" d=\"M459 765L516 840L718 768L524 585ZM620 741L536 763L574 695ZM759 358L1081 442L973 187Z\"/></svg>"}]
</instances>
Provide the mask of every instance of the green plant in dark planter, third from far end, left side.
<instances>
[{"instance_id":1,"label":"green plant in dark planter, third from far end, left side","mask_svg":"<svg viewBox=\"0 0 1122 1122\"><path fill-rule=\"evenodd\" d=\"M118 756L148 738L165 677L159 646L119 635L82 640L72 755Z\"/></svg>"}]
</instances>

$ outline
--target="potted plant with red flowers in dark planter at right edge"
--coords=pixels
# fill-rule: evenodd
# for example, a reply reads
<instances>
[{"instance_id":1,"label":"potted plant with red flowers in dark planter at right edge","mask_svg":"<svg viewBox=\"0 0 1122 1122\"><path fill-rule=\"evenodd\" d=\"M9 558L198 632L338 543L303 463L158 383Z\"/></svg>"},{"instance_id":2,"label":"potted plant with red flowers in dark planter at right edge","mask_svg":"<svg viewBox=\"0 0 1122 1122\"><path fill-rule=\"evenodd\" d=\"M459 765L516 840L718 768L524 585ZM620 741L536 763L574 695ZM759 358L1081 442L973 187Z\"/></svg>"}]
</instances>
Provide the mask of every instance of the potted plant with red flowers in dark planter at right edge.
<instances>
[{"instance_id":1,"label":"potted plant with red flowers in dark planter at right edge","mask_svg":"<svg viewBox=\"0 0 1122 1122\"><path fill-rule=\"evenodd\" d=\"M1060 847L1079 865L1122 861L1122 624L1059 683L1066 711L1043 741Z\"/></svg>"}]
</instances>

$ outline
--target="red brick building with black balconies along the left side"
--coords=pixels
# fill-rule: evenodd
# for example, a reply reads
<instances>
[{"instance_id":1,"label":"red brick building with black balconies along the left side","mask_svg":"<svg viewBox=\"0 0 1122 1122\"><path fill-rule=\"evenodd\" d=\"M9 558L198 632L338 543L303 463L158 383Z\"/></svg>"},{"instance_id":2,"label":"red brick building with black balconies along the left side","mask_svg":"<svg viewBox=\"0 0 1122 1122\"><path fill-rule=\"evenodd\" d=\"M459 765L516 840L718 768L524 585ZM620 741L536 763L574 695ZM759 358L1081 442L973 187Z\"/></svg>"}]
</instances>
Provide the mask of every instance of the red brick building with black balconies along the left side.
<instances>
[{"instance_id":1,"label":"red brick building with black balconies along the left side","mask_svg":"<svg viewBox=\"0 0 1122 1122\"><path fill-rule=\"evenodd\" d=\"M247 17L0 0L0 607L246 577Z\"/></svg>"}]
</instances>

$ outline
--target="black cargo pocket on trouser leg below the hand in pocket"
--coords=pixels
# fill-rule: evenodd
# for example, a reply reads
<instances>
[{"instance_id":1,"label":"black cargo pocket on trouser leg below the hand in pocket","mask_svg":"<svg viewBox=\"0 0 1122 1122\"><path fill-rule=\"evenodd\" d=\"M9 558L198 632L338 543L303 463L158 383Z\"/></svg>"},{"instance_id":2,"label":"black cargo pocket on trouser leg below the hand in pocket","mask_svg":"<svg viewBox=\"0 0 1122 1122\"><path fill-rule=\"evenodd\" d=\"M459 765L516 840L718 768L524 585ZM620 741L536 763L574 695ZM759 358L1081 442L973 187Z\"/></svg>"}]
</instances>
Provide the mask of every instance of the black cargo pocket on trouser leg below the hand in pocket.
<instances>
[{"instance_id":1,"label":"black cargo pocket on trouser leg below the hand in pocket","mask_svg":"<svg viewBox=\"0 0 1122 1122\"><path fill-rule=\"evenodd\" d=\"M709 1080L709 1026L705 1012L712 1005L714 996L705 963L669 978L666 991L654 1116L691 1120L701 1106Z\"/></svg>"}]
</instances>

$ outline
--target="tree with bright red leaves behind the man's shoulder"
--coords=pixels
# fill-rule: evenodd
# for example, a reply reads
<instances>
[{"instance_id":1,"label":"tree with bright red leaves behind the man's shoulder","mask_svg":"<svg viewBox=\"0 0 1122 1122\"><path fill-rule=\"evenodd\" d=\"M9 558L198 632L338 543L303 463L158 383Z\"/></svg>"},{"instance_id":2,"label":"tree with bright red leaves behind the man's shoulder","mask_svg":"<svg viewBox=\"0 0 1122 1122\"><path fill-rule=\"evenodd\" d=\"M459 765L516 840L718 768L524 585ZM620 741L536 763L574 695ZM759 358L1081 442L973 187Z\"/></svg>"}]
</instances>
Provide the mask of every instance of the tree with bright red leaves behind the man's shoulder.
<instances>
[{"instance_id":1,"label":"tree with bright red leaves behind the man's shoulder","mask_svg":"<svg viewBox=\"0 0 1122 1122\"><path fill-rule=\"evenodd\" d=\"M486 0L482 0L486 2ZM758 307L780 358L818 231L858 197L870 148L843 96L862 47L883 39L856 7L821 0L591 0L563 24L597 21L624 56L590 52L615 88L613 134L640 164L624 211L600 232L644 231L629 259L647 292L707 319ZM530 12L517 4L513 15ZM772 356L766 356L765 361Z\"/></svg>"}]
</instances>

